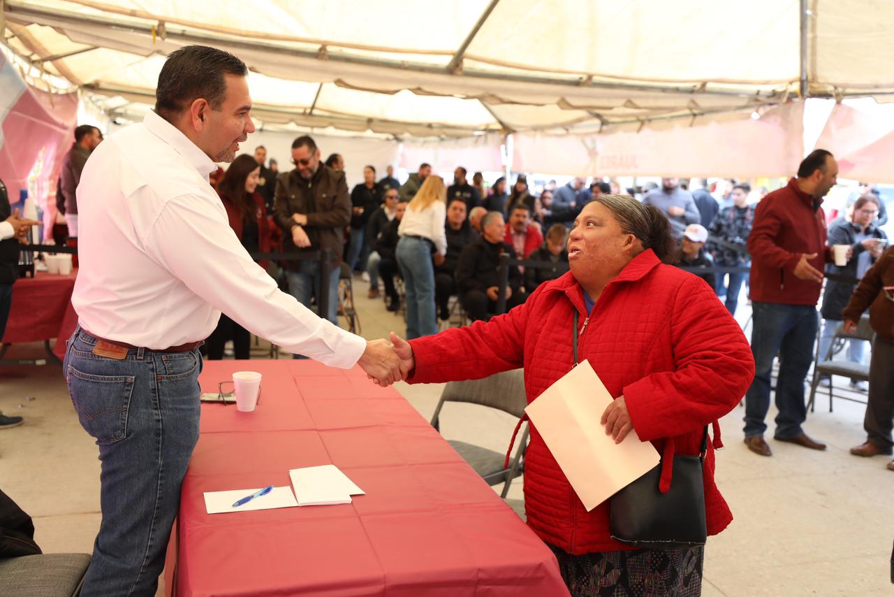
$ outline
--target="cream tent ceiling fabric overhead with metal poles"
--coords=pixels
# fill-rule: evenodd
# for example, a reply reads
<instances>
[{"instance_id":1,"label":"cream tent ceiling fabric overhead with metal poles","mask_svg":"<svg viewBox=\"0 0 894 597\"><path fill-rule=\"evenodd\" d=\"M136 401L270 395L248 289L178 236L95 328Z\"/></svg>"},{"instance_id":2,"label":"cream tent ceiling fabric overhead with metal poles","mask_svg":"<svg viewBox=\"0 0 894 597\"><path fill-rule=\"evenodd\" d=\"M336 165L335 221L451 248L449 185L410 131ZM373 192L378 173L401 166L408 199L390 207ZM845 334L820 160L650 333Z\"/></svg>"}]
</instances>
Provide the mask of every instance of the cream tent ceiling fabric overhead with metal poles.
<instances>
[{"instance_id":1,"label":"cream tent ceiling fabric overhead with metal poles","mask_svg":"<svg viewBox=\"0 0 894 597\"><path fill-rule=\"evenodd\" d=\"M894 58L894 4L807 4L810 94L894 97L879 68ZM164 56L203 43L249 64L265 122L394 136L712 120L783 103L801 78L799 0L3 5L6 43L89 93L150 104Z\"/></svg>"}]
</instances>

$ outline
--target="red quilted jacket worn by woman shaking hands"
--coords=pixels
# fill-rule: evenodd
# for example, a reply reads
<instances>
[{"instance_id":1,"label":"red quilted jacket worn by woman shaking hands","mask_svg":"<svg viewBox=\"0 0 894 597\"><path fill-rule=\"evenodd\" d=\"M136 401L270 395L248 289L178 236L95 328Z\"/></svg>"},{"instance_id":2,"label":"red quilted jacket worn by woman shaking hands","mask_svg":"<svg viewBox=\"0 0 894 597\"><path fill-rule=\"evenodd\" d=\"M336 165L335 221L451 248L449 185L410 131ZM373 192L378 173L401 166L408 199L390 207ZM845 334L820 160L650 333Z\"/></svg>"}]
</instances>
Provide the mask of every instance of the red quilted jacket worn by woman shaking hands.
<instances>
[{"instance_id":1,"label":"red quilted jacket worn by woman shaking hands","mask_svg":"<svg viewBox=\"0 0 894 597\"><path fill-rule=\"evenodd\" d=\"M539 286L527 302L487 323L451 328L410 341L416 358L410 383L480 379L524 367L528 402L573 364L572 310L583 328L583 290L571 273ZM605 287L579 340L611 395L623 395L640 439L665 462L698 454L704 426L738 404L755 363L745 336L699 277L640 253ZM598 421L593 422L599 425ZM713 446L704 465L708 533L732 520L714 484ZM662 484L671 481L671 466ZM544 540L574 554L628 549L609 535L607 503L587 512L532 426L525 462L527 524Z\"/></svg>"}]
</instances>

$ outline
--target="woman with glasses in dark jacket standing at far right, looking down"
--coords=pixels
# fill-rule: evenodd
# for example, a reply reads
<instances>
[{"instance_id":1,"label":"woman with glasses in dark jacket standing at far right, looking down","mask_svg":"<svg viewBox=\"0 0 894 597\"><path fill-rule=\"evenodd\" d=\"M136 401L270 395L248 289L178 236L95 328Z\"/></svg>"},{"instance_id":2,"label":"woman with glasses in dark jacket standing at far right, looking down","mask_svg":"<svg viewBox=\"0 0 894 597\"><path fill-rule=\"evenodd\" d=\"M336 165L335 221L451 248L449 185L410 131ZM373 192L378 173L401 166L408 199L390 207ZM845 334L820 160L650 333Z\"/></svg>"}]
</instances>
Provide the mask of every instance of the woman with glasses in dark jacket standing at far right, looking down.
<instances>
[{"instance_id":1,"label":"woman with glasses in dark jacket standing at far right, looking down","mask_svg":"<svg viewBox=\"0 0 894 597\"><path fill-rule=\"evenodd\" d=\"M888 236L875 225L879 213L879 200L875 195L863 195L854 203L851 216L832 222L829 226L829 246L836 244L849 244L853 247L853 254L847 265L837 266L834 263L826 265L827 274L837 274L859 280L868 271L875 260L881 256L887 243ZM820 336L821 361L826 360L829 354L829 346L835 337L835 329L841 321L841 310L848 304L850 294L854 292L855 282L844 282L829 279L826 281L826 289L822 294L822 335ZM866 342L864 340L849 341L848 360L850 362L863 362ZM829 377L823 377L820 384L828 387L831 384ZM850 387L858 391L866 391L863 381L851 380Z\"/></svg>"}]
</instances>

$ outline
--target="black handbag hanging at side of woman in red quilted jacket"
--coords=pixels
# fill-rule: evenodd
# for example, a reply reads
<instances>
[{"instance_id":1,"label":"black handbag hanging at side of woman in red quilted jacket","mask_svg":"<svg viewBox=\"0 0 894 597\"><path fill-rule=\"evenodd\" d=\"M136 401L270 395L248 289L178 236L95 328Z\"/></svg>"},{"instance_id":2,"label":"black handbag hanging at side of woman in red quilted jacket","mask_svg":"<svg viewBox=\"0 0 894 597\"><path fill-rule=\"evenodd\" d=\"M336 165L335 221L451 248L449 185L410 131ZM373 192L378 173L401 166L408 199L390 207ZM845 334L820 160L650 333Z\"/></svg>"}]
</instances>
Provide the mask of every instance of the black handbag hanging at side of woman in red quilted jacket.
<instances>
[{"instance_id":1,"label":"black handbag hanging at side of woman in red quilted jacket","mask_svg":"<svg viewBox=\"0 0 894 597\"><path fill-rule=\"evenodd\" d=\"M578 365L578 311L574 311L574 364ZM668 439L671 441L671 439ZM704 545L704 427L699 456L674 456L671 489L662 493L659 463L611 496L609 531L615 541L642 549L671 550Z\"/></svg>"}]
</instances>

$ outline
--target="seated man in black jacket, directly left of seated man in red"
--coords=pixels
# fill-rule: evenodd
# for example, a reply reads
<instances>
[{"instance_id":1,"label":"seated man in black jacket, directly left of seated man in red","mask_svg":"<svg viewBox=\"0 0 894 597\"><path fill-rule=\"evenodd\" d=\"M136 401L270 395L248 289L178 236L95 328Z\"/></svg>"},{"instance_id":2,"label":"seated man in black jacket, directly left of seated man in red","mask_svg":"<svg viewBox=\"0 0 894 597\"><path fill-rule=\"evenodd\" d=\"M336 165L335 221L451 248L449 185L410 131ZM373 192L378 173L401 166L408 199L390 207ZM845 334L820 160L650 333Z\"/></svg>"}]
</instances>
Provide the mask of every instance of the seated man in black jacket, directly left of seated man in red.
<instances>
[{"instance_id":1,"label":"seated man in black jacket, directly left of seated man in red","mask_svg":"<svg viewBox=\"0 0 894 597\"><path fill-rule=\"evenodd\" d=\"M504 243L502 238L506 232L506 223L502 213L489 211L481 220L482 237L468 245L460 253L460 262L456 267L456 283L460 289L460 303L472 320L486 321L496 311L500 282L497 267L500 255L509 253L514 256L512 247ZM509 268L509 286L506 287L506 309L525 302L519 291L521 273L516 266Z\"/></svg>"}]
</instances>

